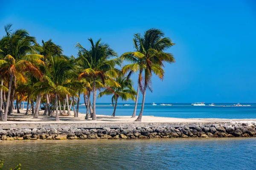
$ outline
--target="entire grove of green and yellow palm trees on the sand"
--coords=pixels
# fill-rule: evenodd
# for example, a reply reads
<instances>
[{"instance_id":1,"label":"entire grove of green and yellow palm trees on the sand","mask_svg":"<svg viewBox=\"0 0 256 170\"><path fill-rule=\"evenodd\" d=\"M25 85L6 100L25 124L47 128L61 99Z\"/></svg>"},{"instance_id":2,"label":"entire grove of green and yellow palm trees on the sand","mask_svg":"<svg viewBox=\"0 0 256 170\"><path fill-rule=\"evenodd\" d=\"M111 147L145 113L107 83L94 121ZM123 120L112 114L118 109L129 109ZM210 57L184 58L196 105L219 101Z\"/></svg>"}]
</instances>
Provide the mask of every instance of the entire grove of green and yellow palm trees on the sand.
<instances>
[{"instance_id":1,"label":"entire grove of green and yellow palm trees on the sand","mask_svg":"<svg viewBox=\"0 0 256 170\"><path fill-rule=\"evenodd\" d=\"M14 108L20 113L24 101L28 103L25 114L32 112L35 119L41 104L44 105L44 115L55 116L56 121L59 121L59 114L71 116L72 107L74 116L78 117L81 94L84 94L87 107L85 119L90 115L96 120L97 91L100 91L98 97L112 96L112 116L115 116L118 99L134 100L132 117L136 116L141 92L143 103L136 120L141 121L146 89L152 92L152 75L163 80L165 63L175 62L172 54L165 52L174 43L159 29L151 28L143 35L134 34L135 51L120 57L101 39L93 42L91 38L88 39L89 48L77 43L77 57L67 57L61 46L52 40L42 40L40 45L28 31L11 28L12 25L5 26L6 35L0 39L0 118L3 121L7 121ZM123 61L128 64L123 65ZM137 72L135 91L130 77Z\"/></svg>"}]
</instances>

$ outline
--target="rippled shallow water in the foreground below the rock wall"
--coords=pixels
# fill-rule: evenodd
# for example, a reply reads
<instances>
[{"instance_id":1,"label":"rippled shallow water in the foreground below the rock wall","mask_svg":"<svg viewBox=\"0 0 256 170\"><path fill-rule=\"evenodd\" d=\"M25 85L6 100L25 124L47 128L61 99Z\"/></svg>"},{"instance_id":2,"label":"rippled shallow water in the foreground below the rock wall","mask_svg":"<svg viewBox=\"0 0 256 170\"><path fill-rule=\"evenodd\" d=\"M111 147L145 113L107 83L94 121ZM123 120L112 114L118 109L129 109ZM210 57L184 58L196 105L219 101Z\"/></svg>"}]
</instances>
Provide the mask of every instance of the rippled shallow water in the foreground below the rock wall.
<instances>
[{"instance_id":1,"label":"rippled shallow water in the foreground below the rock wall","mask_svg":"<svg viewBox=\"0 0 256 170\"><path fill-rule=\"evenodd\" d=\"M256 138L0 141L5 168L253 170Z\"/></svg>"}]
</instances>

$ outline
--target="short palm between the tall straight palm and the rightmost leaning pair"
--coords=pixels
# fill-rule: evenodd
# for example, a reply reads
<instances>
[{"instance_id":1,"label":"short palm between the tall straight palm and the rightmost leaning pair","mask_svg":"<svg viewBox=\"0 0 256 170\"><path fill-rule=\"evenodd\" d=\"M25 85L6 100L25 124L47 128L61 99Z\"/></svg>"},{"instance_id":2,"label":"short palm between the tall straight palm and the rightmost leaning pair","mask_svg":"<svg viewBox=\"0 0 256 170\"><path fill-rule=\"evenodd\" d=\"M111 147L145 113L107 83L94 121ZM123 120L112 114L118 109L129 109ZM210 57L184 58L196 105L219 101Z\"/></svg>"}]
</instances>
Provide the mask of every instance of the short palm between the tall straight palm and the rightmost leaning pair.
<instances>
[{"instance_id":1,"label":"short palm between the tall straight palm and the rightmost leaning pair","mask_svg":"<svg viewBox=\"0 0 256 170\"><path fill-rule=\"evenodd\" d=\"M112 96L112 105L114 107L114 111L112 116L116 114L116 106L119 98L127 101L128 99L135 100L136 91L132 87L133 81L124 76L116 77L116 82L120 85L119 87L106 87L106 89L99 93L98 98L104 95L113 95ZM115 106L114 106L115 102Z\"/></svg>"}]
</instances>

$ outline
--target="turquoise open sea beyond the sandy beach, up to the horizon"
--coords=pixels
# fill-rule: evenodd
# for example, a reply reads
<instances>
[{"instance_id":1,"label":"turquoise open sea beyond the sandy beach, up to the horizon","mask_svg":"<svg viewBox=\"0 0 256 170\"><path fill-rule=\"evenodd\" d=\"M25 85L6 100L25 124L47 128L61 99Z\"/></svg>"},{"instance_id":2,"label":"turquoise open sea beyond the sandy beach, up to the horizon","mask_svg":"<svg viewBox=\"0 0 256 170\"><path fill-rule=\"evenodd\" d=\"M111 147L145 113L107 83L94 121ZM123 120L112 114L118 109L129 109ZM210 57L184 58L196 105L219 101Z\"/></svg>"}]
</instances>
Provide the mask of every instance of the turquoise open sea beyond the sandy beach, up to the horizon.
<instances>
[{"instance_id":1,"label":"turquoise open sea beyond the sandy beach, up to the horizon","mask_svg":"<svg viewBox=\"0 0 256 170\"><path fill-rule=\"evenodd\" d=\"M129 106L123 106L120 103L116 108L116 116L131 116L134 110L134 103ZM216 106L192 106L191 103L171 103L172 106L156 106L146 103L143 115L165 116L177 118L222 118L222 119L256 119L256 103L241 103L250 107L231 107L234 103L215 103ZM221 107L220 105L226 105ZM140 113L141 106L138 105L137 115ZM84 105L79 106L79 112L86 113ZM111 115L113 107L110 103L97 103L96 114Z\"/></svg>"}]
</instances>

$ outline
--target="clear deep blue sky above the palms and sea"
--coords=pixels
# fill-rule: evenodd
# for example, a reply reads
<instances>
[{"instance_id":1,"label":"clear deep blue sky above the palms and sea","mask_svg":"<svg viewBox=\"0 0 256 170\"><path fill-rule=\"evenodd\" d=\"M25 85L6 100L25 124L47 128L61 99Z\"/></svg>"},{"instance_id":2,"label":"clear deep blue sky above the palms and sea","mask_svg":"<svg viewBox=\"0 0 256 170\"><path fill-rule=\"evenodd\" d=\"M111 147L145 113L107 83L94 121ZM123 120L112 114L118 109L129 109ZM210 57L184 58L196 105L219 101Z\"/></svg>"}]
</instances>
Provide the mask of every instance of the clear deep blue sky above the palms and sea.
<instances>
[{"instance_id":1,"label":"clear deep blue sky above the palms and sea","mask_svg":"<svg viewBox=\"0 0 256 170\"><path fill-rule=\"evenodd\" d=\"M66 55L76 42L102 38L121 55L134 33L160 28L175 46L165 79L153 77L146 102L256 102L256 3L253 0L0 2L3 26L25 28L38 42L52 38ZM132 77L137 82L137 75ZM111 102L110 97L97 102ZM141 101L141 97L140 97Z\"/></svg>"}]
</instances>

